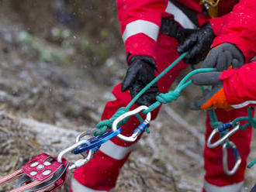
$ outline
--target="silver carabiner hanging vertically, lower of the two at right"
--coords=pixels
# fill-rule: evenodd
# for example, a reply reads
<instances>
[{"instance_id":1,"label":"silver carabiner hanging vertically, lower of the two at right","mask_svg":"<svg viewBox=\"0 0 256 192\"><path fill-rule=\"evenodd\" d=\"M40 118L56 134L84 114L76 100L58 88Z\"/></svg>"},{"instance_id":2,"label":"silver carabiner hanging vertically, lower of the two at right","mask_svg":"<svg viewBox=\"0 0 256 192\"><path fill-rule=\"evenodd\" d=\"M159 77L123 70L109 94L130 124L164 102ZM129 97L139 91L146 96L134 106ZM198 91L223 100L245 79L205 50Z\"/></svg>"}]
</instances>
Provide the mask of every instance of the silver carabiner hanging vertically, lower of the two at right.
<instances>
[{"instance_id":1,"label":"silver carabiner hanging vertically, lower of the two at right","mask_svg":"<svg viewBox=\"0 0 256 192\"><path fill-rule=\"evenodd\" d=\"M228 163L227 163L227 142L225 142L222 146L223 151L223 170L227 175L234 175L234 173L237 172L237 169L240 166L240 163L242 162L242 159L240 157L240 154L238 153L237 146L234 144L234 142L230 142L230 146L232 147L233 155L235 159L237 159L234 167L232 170L228 169Z\"/></svg>"}]
</instances>

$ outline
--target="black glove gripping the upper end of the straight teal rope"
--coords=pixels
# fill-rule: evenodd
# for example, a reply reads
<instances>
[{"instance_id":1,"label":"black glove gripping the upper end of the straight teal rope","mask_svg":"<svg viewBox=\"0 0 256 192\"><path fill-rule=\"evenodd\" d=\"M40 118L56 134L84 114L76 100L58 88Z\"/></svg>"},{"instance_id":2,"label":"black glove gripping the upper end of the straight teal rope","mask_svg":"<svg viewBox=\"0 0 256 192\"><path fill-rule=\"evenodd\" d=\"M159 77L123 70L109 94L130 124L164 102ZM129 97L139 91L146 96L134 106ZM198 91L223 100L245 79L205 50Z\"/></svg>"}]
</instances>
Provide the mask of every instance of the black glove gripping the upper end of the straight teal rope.
<instances>
[{"instance_id":1,"label":"black glove gripping the upper end of the straight teal rope","mask_svg":"<svg viewBox=\"0 0 256 192\"><path fill-rule=\"evenodd\" d=\"M207 23L188 36L184 43L178 46L177 51L180 54L189 51L184 58L185 63L199 63L199 61L205 59L213 43L214 37L215 35L213 33L212 26Z\"/></svg>"}]
</instances>

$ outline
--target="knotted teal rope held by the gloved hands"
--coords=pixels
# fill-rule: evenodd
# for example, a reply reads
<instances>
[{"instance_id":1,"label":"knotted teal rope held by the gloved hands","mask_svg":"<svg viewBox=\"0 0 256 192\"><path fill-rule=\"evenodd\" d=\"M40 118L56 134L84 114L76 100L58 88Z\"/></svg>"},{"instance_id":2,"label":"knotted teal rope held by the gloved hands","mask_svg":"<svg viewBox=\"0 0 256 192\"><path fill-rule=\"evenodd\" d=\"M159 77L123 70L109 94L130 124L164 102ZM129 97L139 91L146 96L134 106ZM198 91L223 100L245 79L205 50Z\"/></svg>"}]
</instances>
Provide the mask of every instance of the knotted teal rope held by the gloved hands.
<instances>
[{"instance_id":1,"label":"knotted teal rope held by the gloved hands","mask_svg":"<svg viewBox=\"0 0 256 192\"><path fill-rule=\"evenodd\" d=\"M164 76L164 74L167 74L169 70L171 70L173 67L175 67L175 65L181 61L187 53L182 53L182 55L180 57L178 57L177 60L175 60L173 63L171 63L165 70L163 70L161 72L161 74L158 74L157 77L154 78L154 80L150 81L149 84L147 84L146 87L144 87L131 101L128 105L126 105L125 108L119 108L118 111L116 111L116 113L112 116L112 118L109 118L107 120L103 120L102 122L99 122L98 125L96 125L96 128L99 129L98 132L95 132L95 135L100 135L103 132L106 132L107 129L111 129L112 127L112 122L115 121L116 118L118 118L120 115L123 115L124 113L126 113L127 111L129 111L130 107L137 101L138 98L140 98L140 96L142 94L144 94L147 89L149 89L153 84L155 84L159 79L161 79L161 77ZM180 96L180 92L185 89L185 87L188 87L190 84L192 84L192 81L189 80L190 77L192 77L194 74L199 74L199 73L205 73L205 72L210 72L210 71L215 71L216 69L213 68L204 68L204 69L197 69L197 70L193 70L192 72L190 72L189 74L187 74L182 81L180 81L180 83L178 84L178 86L175 88L174 91L168 91L168 93L161 93L159 95L157 95L157 101L154 102L154 104L150 105L148 107L147 110L143 111L143 114L147 114L150 111L154 111L155 108L159 107L159 105L161 104L166 104L169 103L171 101L176 100L179 96ZM210 89L211 87L209 87ZM201 90L203 91L203 87L201 86ZM213 127L213 129L216 129L218 126L222 125L222 122L219 122L217 117L216 117L216 113L213 109L208 110L209 111L209 118L210 118L210 125L211 127ZM140 115L135 115L140 122L143 121L143 118L141 118ZM127 121L129 120L129 118L124 119L122 122L119 122L119 125L124 125ZM252 113L251 113L251 108L248 108L248 117L240 117L240 118L236 118L234 119L233 125L236 125L237 122L240 121L248 121L247 124L243 125L240 127L240 129L246 129L248 126L252 125L254 128L256 128L256 119L254 119L252 117ZM119 126L118 125L118 126ZM146 132L149 132L148 129L146 129ZM222 137L223 135L226 135L227 132L222 132L220 134L220 137ZM227 146L229 146L229 141L227 139Z\"/></svg>"}]
</instances>

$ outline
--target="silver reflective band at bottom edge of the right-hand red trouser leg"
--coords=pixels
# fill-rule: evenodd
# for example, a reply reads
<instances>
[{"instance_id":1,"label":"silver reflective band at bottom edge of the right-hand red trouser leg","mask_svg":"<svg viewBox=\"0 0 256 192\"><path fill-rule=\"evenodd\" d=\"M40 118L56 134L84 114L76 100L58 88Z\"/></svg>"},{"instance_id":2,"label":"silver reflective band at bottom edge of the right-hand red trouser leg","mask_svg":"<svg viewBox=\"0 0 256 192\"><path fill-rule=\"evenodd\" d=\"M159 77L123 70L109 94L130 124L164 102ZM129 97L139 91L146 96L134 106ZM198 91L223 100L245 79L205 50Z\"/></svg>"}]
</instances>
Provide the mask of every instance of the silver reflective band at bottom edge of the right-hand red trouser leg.
<instances>
[{"instance_id":1,"label":"silver reflective band at bottom edge of the right-hand red trouser leg","mask_svg":"<svg viewBox=\"0 0 256 192\"><path fill-rule=\"evenodd\" d=\"M223 187L218 187L216 185L208 183L206 180L203 183L203 187L206 192L239 192L242 189L243 185L244 181L234 183L232 185L226 185Z\"/></svg>"}]
</instances>

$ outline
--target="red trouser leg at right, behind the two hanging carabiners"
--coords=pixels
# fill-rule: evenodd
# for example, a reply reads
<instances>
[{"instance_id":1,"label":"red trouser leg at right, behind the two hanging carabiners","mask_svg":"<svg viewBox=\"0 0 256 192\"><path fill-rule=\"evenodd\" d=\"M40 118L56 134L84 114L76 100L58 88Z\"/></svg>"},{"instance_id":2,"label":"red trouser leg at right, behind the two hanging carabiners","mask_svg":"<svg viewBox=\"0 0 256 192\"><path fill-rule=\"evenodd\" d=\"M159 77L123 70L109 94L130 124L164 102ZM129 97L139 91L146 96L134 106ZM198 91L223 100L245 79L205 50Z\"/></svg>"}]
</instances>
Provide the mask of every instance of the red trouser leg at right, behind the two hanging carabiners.
<instances>
[{"instance_id":1,"label":"red trouser leg at right, behind the two hanging carabiners","mask_svg":"<svg viewBox=\"0 0 256 192\"><path fill-rule=\"evenodd\" d=\"M230 122L234 120L234 118L237 118L240 116L247 116L247 109L241 108L241 109L228 111L228 112L219 109L219 110L216 110L216 115L220 122ZM245 122L242 122L242 125L244 124ZM206 141L211 132L213 132L213 129L209 125L209 115L207 115ZM244 180L244 170L246 169L246 165L247 165L246 159L250 153L251 135L252 135L252 129L250 127L244 130L240 130L236 132L234 135L230 136L230 141L234 142L234 144L237 146L237 149L242 159L242 163L240 164L240 167L238 168L237 172L232 176L227 176L225 173L223 173L222 146L218 146L213 149L209 149L207 146L205 146L203 156L205 160L205 169L206 169L205 179L208 183L211 183L218 187L222 187L225 185L238 183ZM213 142L216 141L216 139L213 139ZM228 154L229 169L232 169L235 163L235 159L230 149L228 149L227 154Z\"/></svg>"}]
</instances>

